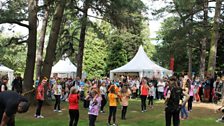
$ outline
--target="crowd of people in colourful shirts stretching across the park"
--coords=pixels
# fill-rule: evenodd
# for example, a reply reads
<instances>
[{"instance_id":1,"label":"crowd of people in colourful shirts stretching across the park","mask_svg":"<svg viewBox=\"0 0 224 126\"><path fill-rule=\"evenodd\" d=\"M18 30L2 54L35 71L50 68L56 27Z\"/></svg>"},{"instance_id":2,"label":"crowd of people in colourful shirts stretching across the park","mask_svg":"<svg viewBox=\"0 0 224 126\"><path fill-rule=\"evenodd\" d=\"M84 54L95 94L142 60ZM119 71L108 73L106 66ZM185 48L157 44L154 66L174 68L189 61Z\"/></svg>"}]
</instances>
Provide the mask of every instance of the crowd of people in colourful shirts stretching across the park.
<instances>
[{"instance_id":1,"label":"crowd of people in colourful shirts stretching across the park","mask_svg":"<svg viewBox=\"0 0 224 126\"><path fill-rule=\"evenodd\" d=\"M5 84L7 78L1 80L1 92L7 90ZM47 89L45 89L47 85ZM62 112L61 101L69 103L69 126L77 126L79 121L79 104L88 108L89 126L95 126L95 121L99 113L105 113L105 105L109 105L108 126L117 125L117 106L121 104L121 119L127 119L129 99L141 100L139 110L147 112L153 109L154 100L164 100L166 126L179 126L180 120L188 119L188 113L193 110L193 102L214 102L217 103L224 98L224 76L217 77L214 80L206 77L201 80L199 77L191 79L187 75L172 76L164 78L147 78L141 80L138 77L121 77L111 81L109 78L82 80L79 77L74 80L71 78L50 79L43 78L35 83L37 107L35 118L44 118L41 114L42 104L44 102L44 91L47 90L47 98L54 99L55 104L52 108L54 112ZM12 90L22 93L22 79L17 76L12 83ZM148 104L147 104L148 100ZM222 101L224 102L224 100ZM187 105L187 108L186 108ZM218 110L222 111L222 107ZM217 121L224 122L224 117Z\"/></svg>"}]
</instances>

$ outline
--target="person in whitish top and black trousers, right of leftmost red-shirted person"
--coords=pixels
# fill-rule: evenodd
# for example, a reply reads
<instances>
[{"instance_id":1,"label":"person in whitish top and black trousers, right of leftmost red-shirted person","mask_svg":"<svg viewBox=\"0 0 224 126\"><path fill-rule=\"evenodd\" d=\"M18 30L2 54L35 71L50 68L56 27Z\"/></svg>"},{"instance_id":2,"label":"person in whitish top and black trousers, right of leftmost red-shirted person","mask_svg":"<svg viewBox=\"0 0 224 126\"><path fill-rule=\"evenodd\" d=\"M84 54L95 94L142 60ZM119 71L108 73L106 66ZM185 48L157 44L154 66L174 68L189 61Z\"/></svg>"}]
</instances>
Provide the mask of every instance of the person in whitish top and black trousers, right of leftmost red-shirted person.
<instances>
[{"instance_id":1,"label":"person in whitish top and black trousers, right of leftmost red-shirted person","mask_svg":"<svg viewBox=\"0 0 224 126\"><path fill-rule=\"evenodd\" d=\"M56 83L53 85L54 97L55 97L55 104L54 104L54 112L61 112L61 95L62 95L62 86L60 81L57 80Z\"/></svg>"}]
</instances>

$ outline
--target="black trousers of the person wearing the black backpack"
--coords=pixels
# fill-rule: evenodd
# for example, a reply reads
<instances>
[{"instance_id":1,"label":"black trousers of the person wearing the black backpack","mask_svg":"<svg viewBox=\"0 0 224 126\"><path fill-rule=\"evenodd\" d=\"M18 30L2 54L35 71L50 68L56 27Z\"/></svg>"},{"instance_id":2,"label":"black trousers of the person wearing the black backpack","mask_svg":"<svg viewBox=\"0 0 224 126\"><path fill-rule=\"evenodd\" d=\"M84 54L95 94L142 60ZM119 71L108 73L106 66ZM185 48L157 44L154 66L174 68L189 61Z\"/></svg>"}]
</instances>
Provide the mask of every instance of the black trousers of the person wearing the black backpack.
<instances>
[{"instance_id":1,"label":"black trousers of the person wearing the black backpack","mask_svg":"<svg viewBox=\"0 0 224 126\"><path fill-rule=\"evenodd\" d=\"M166 126L171 126L172 117L173 117L173 126L179 126L180 125L179 114L180 114L179 110L171 111L168 108L166 108L165 109Z\"/></svg>"}]
</instances>

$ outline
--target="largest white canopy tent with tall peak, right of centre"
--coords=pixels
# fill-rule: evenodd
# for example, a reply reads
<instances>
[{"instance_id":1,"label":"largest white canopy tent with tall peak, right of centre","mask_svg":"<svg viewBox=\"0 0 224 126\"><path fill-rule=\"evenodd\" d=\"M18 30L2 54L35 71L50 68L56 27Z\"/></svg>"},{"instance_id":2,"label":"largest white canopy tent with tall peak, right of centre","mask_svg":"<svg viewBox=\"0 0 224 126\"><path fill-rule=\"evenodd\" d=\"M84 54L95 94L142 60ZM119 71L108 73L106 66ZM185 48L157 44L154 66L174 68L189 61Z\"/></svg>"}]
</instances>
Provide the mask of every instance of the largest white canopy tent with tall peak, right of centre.
<instances>
[{"instance_id":1,"label":"largest white canopy tent with tall peak, right of centre","mask_svg":"<svg viewBox=\"0 0 224 126\"><path fill-rule=\"evenodd\" d=\"M172 74L172 71L165 69L151 61L141 45L138 52L130 62L110 71L110 79L114 79L115 73L138 73L140 78L146 76L155 76L159 78Z\"/></svg>"}]
</instances>

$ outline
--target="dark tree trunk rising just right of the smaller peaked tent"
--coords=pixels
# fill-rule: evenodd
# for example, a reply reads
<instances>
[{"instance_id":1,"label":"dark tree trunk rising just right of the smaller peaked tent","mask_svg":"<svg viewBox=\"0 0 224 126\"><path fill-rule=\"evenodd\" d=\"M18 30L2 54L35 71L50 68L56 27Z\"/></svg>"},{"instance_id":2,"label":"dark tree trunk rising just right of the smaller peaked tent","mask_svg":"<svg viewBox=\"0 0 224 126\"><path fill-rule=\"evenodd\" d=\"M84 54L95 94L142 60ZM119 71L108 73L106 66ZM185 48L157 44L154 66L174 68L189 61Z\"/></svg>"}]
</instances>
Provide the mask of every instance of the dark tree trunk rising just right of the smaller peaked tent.
<instances>
[{"instance_id":1,"label":"dark tree trunk rising just right of the smaller peaked tent","mask_svg":"<svg viewBox=\"0 0 224 126\"><path fill-rule=\"evenodd\" d=\"M77 74L76 77L82 78L82 63L83 63L83 52L85 47L85 36L86 36L86 27L87 27L87 16L88 16L88 6L89 1L86 0L83 6L83 16L81 19L82 26L80 31L80 41L79 41L79 49L77 56Z\"/></svg>"}]
</instances>

